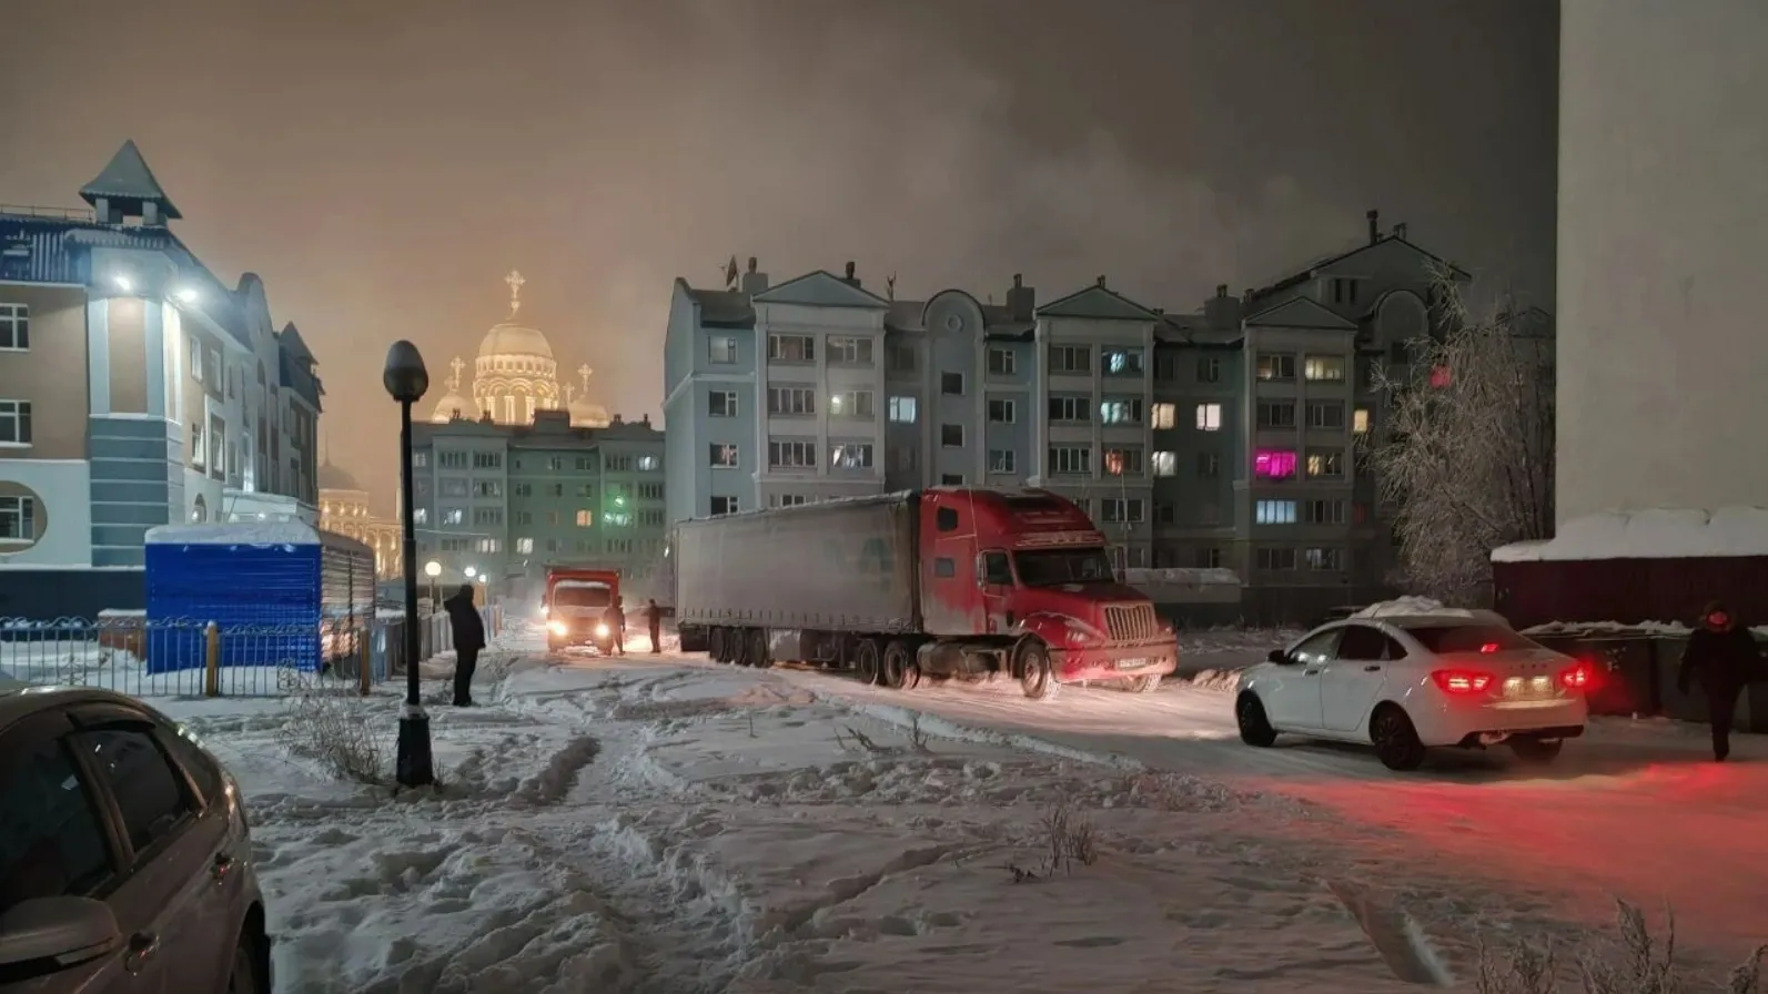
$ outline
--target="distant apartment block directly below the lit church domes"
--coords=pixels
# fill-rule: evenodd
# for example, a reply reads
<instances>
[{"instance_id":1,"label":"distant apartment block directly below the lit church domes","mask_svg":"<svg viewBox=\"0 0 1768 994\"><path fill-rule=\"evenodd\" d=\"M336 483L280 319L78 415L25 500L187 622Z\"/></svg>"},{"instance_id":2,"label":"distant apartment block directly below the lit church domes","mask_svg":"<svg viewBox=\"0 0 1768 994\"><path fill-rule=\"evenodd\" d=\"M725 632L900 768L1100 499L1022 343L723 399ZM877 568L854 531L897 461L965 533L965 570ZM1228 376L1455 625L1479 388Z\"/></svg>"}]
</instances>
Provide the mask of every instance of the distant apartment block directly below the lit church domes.
<instances>
[{"instance_id":1,"label":"distant apartment block directly below the lit church domes","mask_svg":"<svg viewBox=\"0 0 1768 994\"><path fill-rule=\"evenodd\" d=\"M530 424L454 417L414 424L412 522L417 561L440 584L488 577L493 591L537 596L546 566L621 570L649 596L663 557L663 432L649 417L573 428L568 410ZM423 578L423 577L421 577Z\"/></svg>"}]
</instances>

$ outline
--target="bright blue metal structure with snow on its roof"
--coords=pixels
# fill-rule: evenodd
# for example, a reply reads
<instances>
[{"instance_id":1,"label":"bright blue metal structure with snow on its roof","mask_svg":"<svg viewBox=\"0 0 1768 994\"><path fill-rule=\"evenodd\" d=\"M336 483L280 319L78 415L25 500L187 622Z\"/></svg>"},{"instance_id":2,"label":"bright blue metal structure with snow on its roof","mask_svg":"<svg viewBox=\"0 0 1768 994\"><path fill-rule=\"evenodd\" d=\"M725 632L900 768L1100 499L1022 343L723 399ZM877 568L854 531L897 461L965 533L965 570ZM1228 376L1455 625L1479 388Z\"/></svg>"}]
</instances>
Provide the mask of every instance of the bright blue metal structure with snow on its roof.
<instances>
[{"instance_id":1,"label":"bright blue metal structure with snow on its roof","mask_svg":"<svg viewBox=\"0 0 1768 994\"><path fill-rule=\"evenodd\" d=\"M147 532L147 672L200 669L205 626L223 667L318 672L375 617L375 554L302 522L159 525Z\"/></svg>"}]
</instances>

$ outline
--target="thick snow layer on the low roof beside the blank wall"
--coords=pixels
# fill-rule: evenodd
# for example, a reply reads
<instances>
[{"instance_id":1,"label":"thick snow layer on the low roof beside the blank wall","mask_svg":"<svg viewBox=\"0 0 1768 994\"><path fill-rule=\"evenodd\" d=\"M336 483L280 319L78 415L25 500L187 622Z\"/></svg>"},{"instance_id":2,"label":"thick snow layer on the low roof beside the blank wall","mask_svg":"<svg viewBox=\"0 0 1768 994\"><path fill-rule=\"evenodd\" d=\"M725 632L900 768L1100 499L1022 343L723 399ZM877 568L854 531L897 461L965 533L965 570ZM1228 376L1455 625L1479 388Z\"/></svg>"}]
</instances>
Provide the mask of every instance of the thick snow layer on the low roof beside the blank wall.
<instances>
[{"instance_id":1,"label":"thick snow layer on the low roof beside the blank wall","mask_svg":"<svg viewBox=\"0 0 1768 994\"><path fill-rule=\"evenodd\" d=\"M1492 562L1718 559L1768 555L1768 508L1605 511L1572 518L1549 541L1492 550Z\"/></svg>"}]
</instances>

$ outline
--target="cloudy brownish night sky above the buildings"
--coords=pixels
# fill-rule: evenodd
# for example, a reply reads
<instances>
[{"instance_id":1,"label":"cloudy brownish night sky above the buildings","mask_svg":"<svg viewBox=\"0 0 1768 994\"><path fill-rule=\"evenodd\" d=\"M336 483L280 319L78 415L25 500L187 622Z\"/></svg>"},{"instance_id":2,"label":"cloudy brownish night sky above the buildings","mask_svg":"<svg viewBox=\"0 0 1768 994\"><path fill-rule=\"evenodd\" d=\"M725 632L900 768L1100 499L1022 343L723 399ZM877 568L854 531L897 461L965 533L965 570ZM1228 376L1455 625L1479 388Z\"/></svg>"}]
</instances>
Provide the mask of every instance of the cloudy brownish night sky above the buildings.
<instances>
[{"instance_id":1,"label":"cloudy brownish night sky above the buildings","mask_svg":"<svg viewBox=\"0 0 1768 994\"><path fill-rule=\"evenodd\" d=\"M1552 302L1552 0L0 2L0 202L78 205L134 138L179 235L301 327L382 506L385 347L440 391L513 267L560 380L628 417L670 279L730 255L1192 310L1379 207Z\"/></svg>"}]
</instances>

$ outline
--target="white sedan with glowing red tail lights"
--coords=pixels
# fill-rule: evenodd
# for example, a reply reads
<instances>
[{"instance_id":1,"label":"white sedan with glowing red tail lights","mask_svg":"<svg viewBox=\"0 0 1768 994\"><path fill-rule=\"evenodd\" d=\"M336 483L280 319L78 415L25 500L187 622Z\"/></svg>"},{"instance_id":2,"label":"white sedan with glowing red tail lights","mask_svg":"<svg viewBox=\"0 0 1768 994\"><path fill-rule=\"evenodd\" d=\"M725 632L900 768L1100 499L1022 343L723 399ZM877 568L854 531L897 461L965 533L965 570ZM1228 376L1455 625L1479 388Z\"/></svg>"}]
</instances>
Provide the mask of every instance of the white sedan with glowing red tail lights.
<instances>
[{"instance_id":1,"label":"white sedan with glowing red tail lights","mask_svg":"<svg viewBox=\"0 0 1768 994\"><path fill-rule=\"evenodd\" d=\"M1416 769L1427 748L1497 743L1549 762L1584 734L1593 679L1492 612L1372 612L1273 649L1241 676L1234 716L1246 745L1282 732L1367 743L1390 769Z\"/></svg>"}]
</instances>

